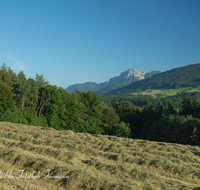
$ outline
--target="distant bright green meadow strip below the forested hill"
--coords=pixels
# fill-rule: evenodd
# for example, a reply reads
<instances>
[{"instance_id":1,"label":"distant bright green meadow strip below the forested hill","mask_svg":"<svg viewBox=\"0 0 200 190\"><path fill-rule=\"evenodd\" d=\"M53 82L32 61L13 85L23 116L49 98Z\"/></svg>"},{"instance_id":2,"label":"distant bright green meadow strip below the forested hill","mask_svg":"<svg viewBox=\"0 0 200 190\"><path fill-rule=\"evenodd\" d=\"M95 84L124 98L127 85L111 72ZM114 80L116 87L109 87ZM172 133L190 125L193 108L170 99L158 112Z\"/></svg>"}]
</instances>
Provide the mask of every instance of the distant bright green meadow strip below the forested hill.
<instances>
[{"instance_id":1,"label":"distant bright green meadow strip below the forested hill","mask_svg":"<svg viewBox=\"0 0 200 190\"><path fill-rule=\"evenodd\" d=\"M200 88L178 88L178 89L148 89L145 91L140 91L132 93L134 96L138 95L151 95L151 96L175 96L178 92L200 92Z\"/></svg>"}]
</instances>

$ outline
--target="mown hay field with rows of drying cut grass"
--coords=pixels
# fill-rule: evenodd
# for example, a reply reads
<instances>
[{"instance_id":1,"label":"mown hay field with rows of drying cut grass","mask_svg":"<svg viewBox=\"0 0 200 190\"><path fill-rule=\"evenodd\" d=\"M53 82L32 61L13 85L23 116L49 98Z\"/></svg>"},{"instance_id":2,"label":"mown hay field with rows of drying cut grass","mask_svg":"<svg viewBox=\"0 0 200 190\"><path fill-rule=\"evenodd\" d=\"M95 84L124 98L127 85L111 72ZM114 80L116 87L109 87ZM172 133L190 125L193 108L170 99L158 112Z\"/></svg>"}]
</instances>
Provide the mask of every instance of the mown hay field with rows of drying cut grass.
<instances>
[{"instance_id":1,"label":"mown hay field with rows of drying cut grass","mask_svg":"<svg viewBox=\"0 0 200 190\"><path fill-rule=\"evenodd\" d=\"M200 147L0 122L0 170L5 190L199 189Z\"/></svg>"}]
</instances>

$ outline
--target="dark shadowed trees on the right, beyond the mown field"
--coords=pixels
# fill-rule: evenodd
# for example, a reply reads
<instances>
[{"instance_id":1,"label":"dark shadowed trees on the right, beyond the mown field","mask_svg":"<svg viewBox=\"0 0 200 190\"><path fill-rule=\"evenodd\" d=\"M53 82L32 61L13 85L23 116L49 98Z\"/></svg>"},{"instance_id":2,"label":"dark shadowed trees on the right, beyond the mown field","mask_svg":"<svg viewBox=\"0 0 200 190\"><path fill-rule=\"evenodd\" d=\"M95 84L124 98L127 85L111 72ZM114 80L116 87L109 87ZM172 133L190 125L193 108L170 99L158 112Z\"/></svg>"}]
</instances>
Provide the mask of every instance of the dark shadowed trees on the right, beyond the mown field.
<instances>
[{"instance_id":1,"label":"dark shadowed trees on the right, beyond the mown field","mask_svg":"<svg viewBox=\"0 0 200 190\"><path fill-rule=\"evenodd\" d=\"M119 115L120 122L129 124L131 132L126 137L200 145L198 99L191 103L190 99L183 98L179 111L171 101L167 106L161 104L159 108L151 103L143 108L136 108L131 102L114 102L112 106Z\"/></svg>"}]
</instances>

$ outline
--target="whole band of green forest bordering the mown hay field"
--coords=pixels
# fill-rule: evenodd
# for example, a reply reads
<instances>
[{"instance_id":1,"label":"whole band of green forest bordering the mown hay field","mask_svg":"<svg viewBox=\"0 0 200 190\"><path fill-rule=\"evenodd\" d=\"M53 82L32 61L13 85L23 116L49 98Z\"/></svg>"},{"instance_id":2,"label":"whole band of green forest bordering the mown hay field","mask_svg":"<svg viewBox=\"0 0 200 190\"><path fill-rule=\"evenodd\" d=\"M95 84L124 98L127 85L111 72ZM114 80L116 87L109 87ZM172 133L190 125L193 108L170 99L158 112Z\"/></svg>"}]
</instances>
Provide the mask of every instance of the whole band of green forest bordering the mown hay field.
<instances>
[{"instance_id":1,"label":"whole band of green forest bordering the mown hay field","mask_svg":"<svg viewBox=\"0 0 200 190\"><path fill-rule=\"evenodd\" d=\"M190 100L179 94L176 98L179 112L174 107L176 101L173 104L167 99L159 105L151 98L145 105L144 101L135 105L125 98L108 106L94 92L70 94L50 85L43 75L27 79L22 71L15 74L5 64L0 69L0 121L199 145L200 102L196 96Z\"/></svg>"}]
</instances>

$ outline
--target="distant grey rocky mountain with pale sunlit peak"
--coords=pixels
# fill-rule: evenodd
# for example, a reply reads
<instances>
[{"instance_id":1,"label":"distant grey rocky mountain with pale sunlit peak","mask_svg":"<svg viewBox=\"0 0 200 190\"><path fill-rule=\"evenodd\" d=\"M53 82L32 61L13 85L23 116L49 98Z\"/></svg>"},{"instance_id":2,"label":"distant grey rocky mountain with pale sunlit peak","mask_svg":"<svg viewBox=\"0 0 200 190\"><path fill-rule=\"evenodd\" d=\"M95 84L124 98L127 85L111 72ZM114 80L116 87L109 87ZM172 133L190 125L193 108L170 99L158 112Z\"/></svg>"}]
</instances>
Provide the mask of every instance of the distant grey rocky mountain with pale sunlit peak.
<instances>
[{"instance_id":1,"label":"distant grey rocky mountain with pale sunlit peak","mask_svg":"<svg viewBox=\"0 0 200 190\"><path fill-rule=\"evenodd\" d=\"M122 72L119 76L113 77L107 80L106 82L103 82L103 83L86 82L82 84L74 84L74 85L68 86L65 90L68 91L69 93L72 93L76 90L83 91L83 92L87 92L88 90L91 90L91 91L98 91L100 93L101 92L100 90L104 89L105 87L108 87L109 85L112 85L111 88L109 87L103 90L103 92L105 93L105 92L109 92L110 90L117 89L122 86L126 86L132 82L143 80L145 78L151 77L161 72L162 71L151 71L149 73L146 73L143 71L128 69Z\"/></svg>"}]
</instances>

